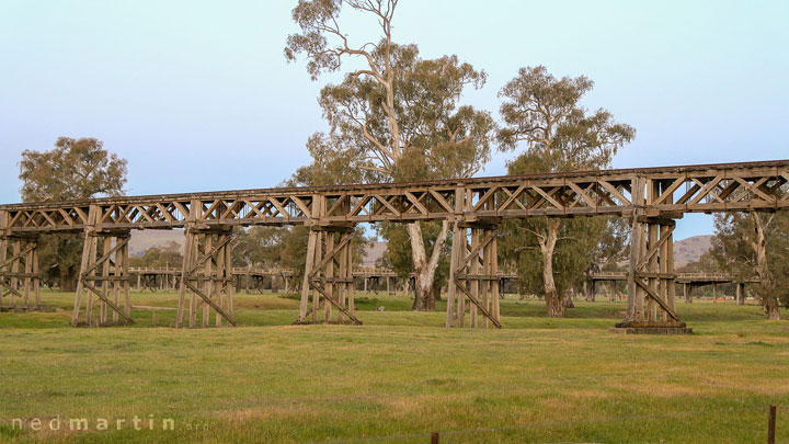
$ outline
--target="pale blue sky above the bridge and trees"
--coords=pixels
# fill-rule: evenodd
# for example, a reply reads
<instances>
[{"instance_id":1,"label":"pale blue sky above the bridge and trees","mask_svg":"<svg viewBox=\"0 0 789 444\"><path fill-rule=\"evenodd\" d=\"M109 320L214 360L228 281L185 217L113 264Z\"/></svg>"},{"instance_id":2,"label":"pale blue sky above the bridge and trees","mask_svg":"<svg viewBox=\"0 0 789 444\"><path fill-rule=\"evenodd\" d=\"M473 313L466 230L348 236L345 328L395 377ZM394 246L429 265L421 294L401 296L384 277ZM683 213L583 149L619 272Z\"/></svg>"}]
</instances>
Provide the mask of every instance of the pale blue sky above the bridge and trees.
<instances>
[{"instance_id":1,"label":"pale blue sky above the bridge and trees","mask_svg":"<svg viewBox=\"0 0 789 444\"><path fill-rule=\"evenodd\" d=\"M23 149L98 137L129 161L129 194L266 187L323 129L282 48L295 1L0 0L0 202ZM595 81L638 136L615 167L789 158L789 2L401 0L395 39L488 71L465 101L496 115L523 66ZM348 21L350 32L367 31ZM483 174L502 174L499 155ZM677 238L711 234L709 216Z\"/></svg>"}]
</instances>

